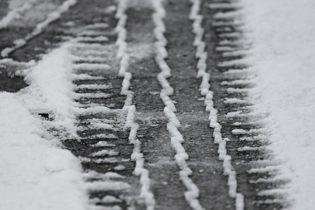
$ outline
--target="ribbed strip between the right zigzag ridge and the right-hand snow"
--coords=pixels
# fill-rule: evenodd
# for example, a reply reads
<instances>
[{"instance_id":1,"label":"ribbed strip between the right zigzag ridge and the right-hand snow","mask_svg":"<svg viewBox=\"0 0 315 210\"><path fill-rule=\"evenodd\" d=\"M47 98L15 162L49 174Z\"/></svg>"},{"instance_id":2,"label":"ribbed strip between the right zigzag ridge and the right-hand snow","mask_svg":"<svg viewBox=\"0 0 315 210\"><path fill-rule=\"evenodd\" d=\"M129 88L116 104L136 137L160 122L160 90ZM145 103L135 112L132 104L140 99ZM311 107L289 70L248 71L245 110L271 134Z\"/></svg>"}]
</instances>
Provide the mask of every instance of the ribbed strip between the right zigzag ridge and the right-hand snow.
<instances>
[{"instance_id":1,"label":"ribbed strip between the right zigzag ridge and the right-hand snow","mask_svg":"<svg viewBox=\"0 0 315 210\"><path fill-rule=\"evenodd\" d=\"M207 17L206 30L213 37L207 43L215 44L218 69L213 72L211 84L216 90L214 98L224 98L223 103L214 100L214 105L220 110L221 132L230 139L226 148L238 173L238 191L245 197L246 209L281 209L285 197L281 188L287 181L274 179L279 163L264 149L268 142L261 129L264 116L252 113L246 98L247 91L255 85L255 71L244 58L250 40L240 27L242 11L232 1L210 2L208 8L202 13Z\"/></svg>"}]
</instances>

